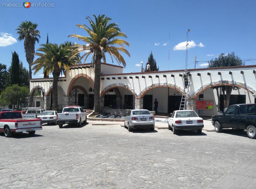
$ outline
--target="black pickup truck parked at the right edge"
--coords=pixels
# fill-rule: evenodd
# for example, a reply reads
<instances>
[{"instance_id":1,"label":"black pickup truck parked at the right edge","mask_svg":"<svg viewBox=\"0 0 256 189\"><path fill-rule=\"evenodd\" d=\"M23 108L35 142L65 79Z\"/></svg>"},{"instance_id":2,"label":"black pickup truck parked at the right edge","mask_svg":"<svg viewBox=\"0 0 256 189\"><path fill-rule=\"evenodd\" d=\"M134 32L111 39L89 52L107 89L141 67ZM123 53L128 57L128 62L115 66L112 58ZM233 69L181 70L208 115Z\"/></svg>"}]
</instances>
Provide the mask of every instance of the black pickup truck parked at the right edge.
<instances>
[{"instance_id":1,"label":"black pickup truck parked at the right edge","mask_svg":"<svg viewBox=\"0 0 256 189\"><path fill-rule=\"evenodd\" d=\"M217 133L223 128L247 130L249 138L256 138L256 104L236 104L228 107L226 112L212 116L212 125Z\"/></svg>"}]
</instances>

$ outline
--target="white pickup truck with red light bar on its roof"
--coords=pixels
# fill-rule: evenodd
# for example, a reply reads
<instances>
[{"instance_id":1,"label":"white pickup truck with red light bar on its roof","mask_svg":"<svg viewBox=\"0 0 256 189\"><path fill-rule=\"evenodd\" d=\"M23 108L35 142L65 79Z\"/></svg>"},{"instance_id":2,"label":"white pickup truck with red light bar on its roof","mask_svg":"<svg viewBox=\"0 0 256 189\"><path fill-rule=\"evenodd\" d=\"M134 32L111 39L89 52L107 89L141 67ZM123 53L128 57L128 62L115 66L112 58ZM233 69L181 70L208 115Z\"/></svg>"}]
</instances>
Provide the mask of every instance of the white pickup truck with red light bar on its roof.
<instances>
[{"instance_id":1,"label":"white pickup truck with red light bar on its roof","mask_svg":"<svg viewBox=\"0 0 256 189\"><path fill-rule=\"evenodd\" d=\"M66 123L76 123L78 126L81 126L82 122L87 122L87 116L80 106L67 106L63 108L62 113L57 114L57 123L60 128Z\"/></svg>"}]
</instances>

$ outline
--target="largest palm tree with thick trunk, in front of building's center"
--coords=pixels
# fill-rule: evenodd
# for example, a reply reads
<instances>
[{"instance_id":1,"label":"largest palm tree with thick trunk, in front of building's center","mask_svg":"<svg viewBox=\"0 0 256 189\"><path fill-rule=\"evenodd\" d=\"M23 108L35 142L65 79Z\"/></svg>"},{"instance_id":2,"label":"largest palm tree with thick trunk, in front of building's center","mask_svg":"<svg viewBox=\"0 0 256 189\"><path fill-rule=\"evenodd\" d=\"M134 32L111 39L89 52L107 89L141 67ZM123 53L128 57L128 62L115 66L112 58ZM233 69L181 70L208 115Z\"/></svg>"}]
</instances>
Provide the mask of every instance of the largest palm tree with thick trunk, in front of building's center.
<instances>
[{"instance_id":1,"label":"largest palm tree with thick trunk, in front of building's center","mask_svg":"<svg viewBox=\"0 0 256 189\"><path fill-rule=\"evenodd\" d=\"M100 69L101 59L106 63L106 53L108 53L112 59L113 57L120 64L126 65L124 57L120 52L124 52L130 56L130 53L124 48L124 44L129 47L129 43L116 37L127 37L125 33L122 33L116 23L109 23L111 18L105 17L105 15L93 15L94 21L90 17L86 17L90 25L77 25L78 28L83 28L89 36L82 36L77 34L69 35L68 37L75 37L78 40L85 42L84 45L75 44L76 53L85 51L85 54L81 56L80 60L84 58L84 62L87 57L92 54L92 67L94 69L94 111L100 112ZM119 46L116 46L119 45Z\"/></svg>"}]
</instances>

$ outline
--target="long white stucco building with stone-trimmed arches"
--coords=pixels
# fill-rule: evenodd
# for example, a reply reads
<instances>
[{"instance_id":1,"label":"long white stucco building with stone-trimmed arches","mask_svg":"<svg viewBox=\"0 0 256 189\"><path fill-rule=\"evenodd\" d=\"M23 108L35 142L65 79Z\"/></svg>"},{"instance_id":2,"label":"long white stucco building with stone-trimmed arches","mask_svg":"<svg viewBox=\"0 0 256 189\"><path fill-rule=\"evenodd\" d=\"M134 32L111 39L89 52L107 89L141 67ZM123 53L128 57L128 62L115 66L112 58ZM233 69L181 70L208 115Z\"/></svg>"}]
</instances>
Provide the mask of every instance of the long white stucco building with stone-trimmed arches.
<instances>
[{"instance_id":1,"label":"long white stucco building with stone-trimmed arches","mask_svg":"<svg viewBox=\"0 0 256 189\"><path fill-rule=\"evenodd\" d=\"M232 91L230 103L255 103L256 66L190 69L191 82L187 108L195 109L199 115L211 116L218 112L216 90L211 87L231 85L240 87ZM184 80L184 70L123 73L123 67L113 64L101 65L101 106L118 109L145 108L153 110L158 101L158 112L172 113L179 109ZM51 109L52 78L30 79L30 105L37 88L43 91L44 103L40 106ZM58 82L58 104L60 107L78 104L93 108L94 68L91 64L71 66ZM222 98L222 97L221 97ZM39 100L35 100L39 101ZM35 102L39 105L39 102ZM210 104L210 106L206 104ZM221 107L223 109L223 105Z\"/></svg>"}]
</instances>

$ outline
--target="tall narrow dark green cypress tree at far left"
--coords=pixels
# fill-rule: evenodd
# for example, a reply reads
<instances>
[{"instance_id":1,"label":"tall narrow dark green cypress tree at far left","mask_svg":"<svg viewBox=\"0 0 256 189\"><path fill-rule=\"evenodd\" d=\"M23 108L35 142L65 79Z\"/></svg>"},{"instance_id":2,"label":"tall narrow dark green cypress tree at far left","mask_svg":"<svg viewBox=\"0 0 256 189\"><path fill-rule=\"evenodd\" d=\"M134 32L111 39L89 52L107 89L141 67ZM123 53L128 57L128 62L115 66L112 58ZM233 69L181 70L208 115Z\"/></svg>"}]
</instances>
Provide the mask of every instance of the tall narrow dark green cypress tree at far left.
<instances>
[{"instance_id":1,"label":"tall narrow dark green cypress tree at far left","mask_svg":"<svg viewBox=\"0 0 256 189\"><path fill-rule=\"evenodd\" d=\"M11 84L19 84L19 77L20 77L20 60L19 60L19 55L14 51L12 53L12 63L10 67L10 79L11 79Z\"/></svg>"}]
</instances>

